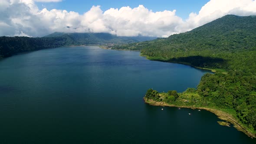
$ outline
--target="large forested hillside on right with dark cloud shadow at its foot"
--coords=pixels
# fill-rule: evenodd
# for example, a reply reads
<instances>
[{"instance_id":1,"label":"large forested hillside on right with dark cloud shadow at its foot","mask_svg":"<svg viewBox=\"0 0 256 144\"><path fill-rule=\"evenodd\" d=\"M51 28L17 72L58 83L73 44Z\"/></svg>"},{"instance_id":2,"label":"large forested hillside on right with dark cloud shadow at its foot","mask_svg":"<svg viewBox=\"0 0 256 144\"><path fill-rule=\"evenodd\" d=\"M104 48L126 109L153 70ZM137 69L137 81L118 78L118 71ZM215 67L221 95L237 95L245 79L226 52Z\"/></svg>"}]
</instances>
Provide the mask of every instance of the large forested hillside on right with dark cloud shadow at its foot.
<instances>
[{"instance_id":1,"label":"large forested hillside on right with dark cloud shadow at its foot","mask_svg":"<svg viewBox=\"0 0 256 144\"><path fill-rule=\"evenodd\" d=\"M151 59L184 62L198 67L227 69L232 63L239 67L243 65L237 60L244 59L244 55L255 58L251 53L256 49L256 16L227 15L186 33L149 42L116 45L113 49L141 50L142 55Z\"/></svg>"}]
</instances>

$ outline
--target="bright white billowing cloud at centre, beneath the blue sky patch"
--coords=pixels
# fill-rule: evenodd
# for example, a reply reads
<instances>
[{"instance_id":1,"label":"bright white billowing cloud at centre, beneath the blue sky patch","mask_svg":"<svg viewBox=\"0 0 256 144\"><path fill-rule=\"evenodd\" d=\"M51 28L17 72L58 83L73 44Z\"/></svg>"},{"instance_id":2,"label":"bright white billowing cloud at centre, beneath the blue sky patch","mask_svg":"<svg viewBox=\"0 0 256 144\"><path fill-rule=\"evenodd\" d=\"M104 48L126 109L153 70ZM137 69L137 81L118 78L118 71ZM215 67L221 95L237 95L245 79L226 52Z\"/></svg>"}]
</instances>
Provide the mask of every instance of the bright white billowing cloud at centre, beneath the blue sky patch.
<instances>
[{"instance_id":1,"label":"bright white billowing cloud at centre, beneath the blue sky patch","mask_svg":"<svg viewBox=\"0 0 256 144\"><path fill-rule=\"evenodd\" d=\"M121 9L109 9L103 16L106 26L117 35L122 36L163 36L180 33L176 27L183 23L182 19L175 15L176 10L152 12L143 5L135 8L122 7Z\"/></svg>"}]
</instances>

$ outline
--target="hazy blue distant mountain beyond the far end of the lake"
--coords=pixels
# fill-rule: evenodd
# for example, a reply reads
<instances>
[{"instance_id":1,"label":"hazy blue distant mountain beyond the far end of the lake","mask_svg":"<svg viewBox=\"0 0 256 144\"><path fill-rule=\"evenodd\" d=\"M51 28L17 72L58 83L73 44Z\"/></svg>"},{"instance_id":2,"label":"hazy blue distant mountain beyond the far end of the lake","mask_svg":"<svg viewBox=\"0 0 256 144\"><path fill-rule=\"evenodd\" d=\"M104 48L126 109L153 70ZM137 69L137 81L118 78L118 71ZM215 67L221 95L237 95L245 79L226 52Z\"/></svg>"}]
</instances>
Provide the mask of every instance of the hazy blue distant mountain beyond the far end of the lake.
<instances>
[{"instance_id":1,"label":"hazy blue distant mountain beyond the far end of the lake","mask_svg":"<svg viewBox=\"0 0 256 144\"><path fill-rule=\"evenodd\" d=\"M156 39L149 36L116 36L109 33L59 33L55 32L44 37L64 36L73 39L75 43L86 44L106 44L106 43L135 43Z\"/></svg>"}]
</instances>

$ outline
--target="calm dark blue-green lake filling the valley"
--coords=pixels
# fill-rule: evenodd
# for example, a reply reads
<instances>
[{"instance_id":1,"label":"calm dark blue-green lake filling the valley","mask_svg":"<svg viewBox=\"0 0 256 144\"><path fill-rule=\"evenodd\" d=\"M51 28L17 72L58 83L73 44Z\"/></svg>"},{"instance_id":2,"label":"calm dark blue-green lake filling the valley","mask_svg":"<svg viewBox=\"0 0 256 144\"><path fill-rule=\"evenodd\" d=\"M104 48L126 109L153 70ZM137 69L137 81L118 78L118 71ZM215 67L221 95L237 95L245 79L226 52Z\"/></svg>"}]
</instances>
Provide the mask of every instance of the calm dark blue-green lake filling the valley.
<instances>
[{"instance_id":1,"label":"calm dark blue-green lake filling the valley","mask_svg":"<svg viewBox=\"0 0 256 144\"><path fill-rule=\"evenodd\" d=\"M209 111L145 104L149 88L196 88L207 71L139 55L77 46L0 60L0 144L256 144Z\"/></svg>"}]
</instances>

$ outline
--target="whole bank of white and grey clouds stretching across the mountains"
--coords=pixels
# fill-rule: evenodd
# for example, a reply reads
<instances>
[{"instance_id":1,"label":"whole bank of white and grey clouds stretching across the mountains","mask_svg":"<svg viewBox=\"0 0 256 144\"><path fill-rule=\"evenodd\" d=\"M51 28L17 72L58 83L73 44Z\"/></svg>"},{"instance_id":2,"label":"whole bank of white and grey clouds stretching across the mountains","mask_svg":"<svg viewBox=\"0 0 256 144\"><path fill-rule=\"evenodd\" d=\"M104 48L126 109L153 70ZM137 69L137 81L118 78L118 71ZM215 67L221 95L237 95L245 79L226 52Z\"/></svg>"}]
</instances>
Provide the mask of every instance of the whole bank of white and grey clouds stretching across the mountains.
<instances>
[{"instance_id":1,"label":"whole bank of white and grey clouds stretching across the mountains","mask_svg":"<svg viewBox=\"0 0 256 144\"><path fill-rule=\"evenodd\" d=\"M66 10L39 10L35 1L61 0L0 0L0 36L44 36L55 31L69 31L167 37L226 14L256 15L255 0L210 0L198 13L190 13L187 20L177 16L176 10L152 12L143 5L106 11L100 6L92 6L89 11L79 14Z\"/></svg>"}]
</instances>

